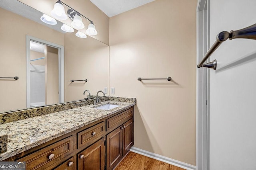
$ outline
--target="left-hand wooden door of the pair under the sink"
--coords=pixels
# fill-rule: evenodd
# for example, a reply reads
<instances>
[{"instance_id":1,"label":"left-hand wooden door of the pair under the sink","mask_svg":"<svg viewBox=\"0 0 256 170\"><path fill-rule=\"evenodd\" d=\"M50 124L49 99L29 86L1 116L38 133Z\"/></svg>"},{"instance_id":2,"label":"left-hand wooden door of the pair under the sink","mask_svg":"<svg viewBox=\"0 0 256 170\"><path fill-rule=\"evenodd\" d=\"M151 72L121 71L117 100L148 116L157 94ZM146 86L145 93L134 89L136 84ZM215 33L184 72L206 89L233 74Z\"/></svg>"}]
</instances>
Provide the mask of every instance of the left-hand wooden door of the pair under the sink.
<instances>
[{"instance_id":1,"label":"left-hand wooden door of the pair under the sink","mask_svg":"<svg viewBox=\"0 0 256 170\"><path fill-rule=\"evenodd\" d=\"M122 159L122 127L107 135L107 169L112 170Z\"/></svg>"}]
</instances>

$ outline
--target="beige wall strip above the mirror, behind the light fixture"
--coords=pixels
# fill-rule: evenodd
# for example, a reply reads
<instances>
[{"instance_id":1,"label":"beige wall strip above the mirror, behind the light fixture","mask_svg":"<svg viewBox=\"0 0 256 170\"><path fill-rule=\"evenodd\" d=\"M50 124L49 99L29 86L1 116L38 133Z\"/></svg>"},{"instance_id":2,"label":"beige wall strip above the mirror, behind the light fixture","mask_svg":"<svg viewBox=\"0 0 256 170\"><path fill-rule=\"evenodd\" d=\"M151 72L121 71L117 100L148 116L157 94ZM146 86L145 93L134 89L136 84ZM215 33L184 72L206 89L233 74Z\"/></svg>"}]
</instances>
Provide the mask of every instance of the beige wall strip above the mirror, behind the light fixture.
<instances>
[{"instance_id":1,"label":"beige wall strip above the mirror, behind the light fixture","mask_svg":"<svg viewBox=\"0 0 256 170\"><path fill-rule=\"evenodd\" d=\"M43 12L51 16L50 12L57 0L20 0L24 4ZM76 11L80 12L82 15L86 16L95 24L98 35L92 36L105 44L109 41L109 17L104 14L99 8L97 8L90 0L62 0L65 4L74 8ZM66 6L64 6L66 8ZM66 8L68 9L68 8ZM71 26L71 20L61 20L61 22L66 23ZM79 29L80 31L86 31L90 21L83 18L85 25L84 29Z\"/></svg>"}]
</instances>

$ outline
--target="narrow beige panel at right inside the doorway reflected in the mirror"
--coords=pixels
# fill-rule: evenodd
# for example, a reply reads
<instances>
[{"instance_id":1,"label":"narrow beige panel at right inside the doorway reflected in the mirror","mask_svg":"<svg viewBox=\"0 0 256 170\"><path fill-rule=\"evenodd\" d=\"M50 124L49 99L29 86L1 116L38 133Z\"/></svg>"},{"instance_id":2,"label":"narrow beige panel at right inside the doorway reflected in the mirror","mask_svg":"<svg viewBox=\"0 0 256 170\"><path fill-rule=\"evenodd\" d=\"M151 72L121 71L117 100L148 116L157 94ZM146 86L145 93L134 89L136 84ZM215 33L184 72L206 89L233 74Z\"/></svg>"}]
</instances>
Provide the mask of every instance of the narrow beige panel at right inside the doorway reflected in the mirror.
<instances>
[{"instance_id":1,"label":"narrow beige panel at right inside the doorway reflected in the mirror","mask_svg":"<svg viewBox=\"0 0 256 170\"><path fill-rule=\"evenodd\" d=\"M46 47L46 96L45 104L57 104L59 103L59 59L58 49L53 47Z\"/></svg>"}]
</instances>

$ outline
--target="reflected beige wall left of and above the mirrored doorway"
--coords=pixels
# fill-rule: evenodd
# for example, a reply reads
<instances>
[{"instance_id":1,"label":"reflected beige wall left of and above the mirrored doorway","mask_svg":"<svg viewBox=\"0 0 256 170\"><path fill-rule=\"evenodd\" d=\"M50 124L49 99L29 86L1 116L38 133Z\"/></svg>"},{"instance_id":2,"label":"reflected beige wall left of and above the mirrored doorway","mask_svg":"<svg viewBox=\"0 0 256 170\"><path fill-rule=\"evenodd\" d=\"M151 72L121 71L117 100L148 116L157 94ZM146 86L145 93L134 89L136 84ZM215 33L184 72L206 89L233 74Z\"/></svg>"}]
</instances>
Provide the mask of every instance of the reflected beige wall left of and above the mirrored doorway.
<instances>
[{"instance_id":1,"label":"reflected beige wall left of and above the mirrored doorway","mask_svg":"<svg viewBox=\"0 0 256 170\"><path fill-rule=\"evenodd\" d=\"M26 108L26 35L64 45L64 35L39 23L0 8L0 76L18 76L18 80L0 80L0 112ZM51 31L54 35L49 35ZM4 96L4 97L3 97Z\"/></svg>"}]
</instances>

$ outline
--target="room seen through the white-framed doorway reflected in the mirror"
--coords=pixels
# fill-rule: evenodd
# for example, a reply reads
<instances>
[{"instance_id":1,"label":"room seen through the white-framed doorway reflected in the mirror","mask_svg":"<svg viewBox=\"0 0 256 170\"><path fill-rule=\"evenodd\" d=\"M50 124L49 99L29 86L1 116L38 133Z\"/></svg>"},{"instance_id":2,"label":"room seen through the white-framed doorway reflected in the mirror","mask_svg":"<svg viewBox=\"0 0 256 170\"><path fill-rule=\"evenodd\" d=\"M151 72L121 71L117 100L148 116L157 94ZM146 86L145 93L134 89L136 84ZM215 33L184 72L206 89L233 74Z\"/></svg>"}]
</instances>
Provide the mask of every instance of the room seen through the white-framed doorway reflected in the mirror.
<instances>
[{"instance_id":1,"label":"room seen through the white-framed doorway reflected in the mirror","mask_svg":"<svg viewBox=\"0 0 256 170\"><path fill-rule=\"evenodd\" d=\"M28 91L29 90L27 90L27 93ZM44 106L60 102L57 48L30 41L29 93L29 107Z\"/></svg>"}]
</instances>

